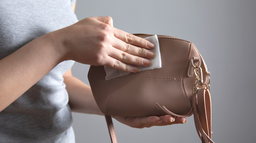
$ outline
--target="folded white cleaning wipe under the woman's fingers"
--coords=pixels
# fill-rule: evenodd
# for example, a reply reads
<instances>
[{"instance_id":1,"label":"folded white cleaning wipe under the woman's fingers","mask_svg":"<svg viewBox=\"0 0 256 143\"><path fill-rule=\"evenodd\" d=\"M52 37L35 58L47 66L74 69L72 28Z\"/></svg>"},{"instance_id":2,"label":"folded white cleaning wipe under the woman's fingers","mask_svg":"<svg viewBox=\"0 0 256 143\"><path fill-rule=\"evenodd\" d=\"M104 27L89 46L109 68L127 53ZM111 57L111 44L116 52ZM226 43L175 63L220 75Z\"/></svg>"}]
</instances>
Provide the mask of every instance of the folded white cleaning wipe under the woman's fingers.
<instances>
[{"instance_id":1,"label":"folded white cleaning wipe under the woman's fingers","mask_svg":"<svg viewBox=\"0 0 256 143\"><path fill-rule=\"evenodd\" d=\"M162 67L162 63L161 63L161 55L160 55L160 49L159 49L159 42L158 42L158 38L157 35L154 36L150 36L150 37L146 37L144 38L150 42L152 42L155 45L155 48L150 50L152 52L154 52L156 54L156 57L154 57L153 59L150 59L152 61L152 65L149 67L143 67L143 66L138 66L140 68L140 71L145 71L145 70L152 70L152 69L157 69L157 68L161 68ZM120 71L114 68L110 68L107 66L104 66L105 72L106 72L106 80L115 78L115 77L120 77L120 76L124 76L129 74L130 72L126 72L126 71Z\"/></svg>"}]
</instances>

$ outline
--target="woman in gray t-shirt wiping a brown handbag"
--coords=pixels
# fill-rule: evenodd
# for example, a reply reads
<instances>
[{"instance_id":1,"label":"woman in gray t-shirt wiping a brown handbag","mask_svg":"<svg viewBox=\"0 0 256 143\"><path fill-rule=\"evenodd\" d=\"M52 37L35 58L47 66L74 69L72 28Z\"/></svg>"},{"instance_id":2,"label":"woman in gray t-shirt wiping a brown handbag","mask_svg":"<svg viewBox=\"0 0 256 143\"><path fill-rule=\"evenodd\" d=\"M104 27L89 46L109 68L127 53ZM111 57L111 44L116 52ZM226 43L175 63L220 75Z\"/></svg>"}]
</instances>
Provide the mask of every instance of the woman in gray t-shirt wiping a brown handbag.
<instances>
[{"instance_id":1,"label":"woman in gray t-shirt wiping a brown handbag","mask_svg":"<svg viewBox=\"0 0 256 143\"><path fill-rule=\"evenodd\" d=\"M111 17L77 22L74 9L73 0L0 1L0 142L75 142L71 111L102 115L72 76L74 61L129 72L150 65L154 44L114 28ZM115 118L136 128L186 122Z\"/></svg>"}]
</instances>

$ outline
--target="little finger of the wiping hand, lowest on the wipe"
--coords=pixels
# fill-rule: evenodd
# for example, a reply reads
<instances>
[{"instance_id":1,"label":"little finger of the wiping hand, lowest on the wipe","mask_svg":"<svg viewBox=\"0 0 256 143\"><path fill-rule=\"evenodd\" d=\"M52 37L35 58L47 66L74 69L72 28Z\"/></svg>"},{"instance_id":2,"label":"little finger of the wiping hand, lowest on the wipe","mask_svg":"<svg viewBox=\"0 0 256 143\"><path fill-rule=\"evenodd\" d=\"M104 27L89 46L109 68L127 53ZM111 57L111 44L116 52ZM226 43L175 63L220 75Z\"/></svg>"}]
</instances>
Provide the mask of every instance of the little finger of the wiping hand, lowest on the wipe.
<instances>
[{"instance_id":1,"label":"little finger of the wiping hand, lowest on the wipe","mask_svg":"<svg viewBox=\"0 0 256 143\"><path fill-rule=\"evenodd\" d=\"M121 71L127 71L127 72L133 72L133 73L140 71L140 68L123 63L120 60L113 58L111 56L108 56L108 58L106 59L106 63L104 65L117 70L121 70Z\"/></svg>"}]
</instances>

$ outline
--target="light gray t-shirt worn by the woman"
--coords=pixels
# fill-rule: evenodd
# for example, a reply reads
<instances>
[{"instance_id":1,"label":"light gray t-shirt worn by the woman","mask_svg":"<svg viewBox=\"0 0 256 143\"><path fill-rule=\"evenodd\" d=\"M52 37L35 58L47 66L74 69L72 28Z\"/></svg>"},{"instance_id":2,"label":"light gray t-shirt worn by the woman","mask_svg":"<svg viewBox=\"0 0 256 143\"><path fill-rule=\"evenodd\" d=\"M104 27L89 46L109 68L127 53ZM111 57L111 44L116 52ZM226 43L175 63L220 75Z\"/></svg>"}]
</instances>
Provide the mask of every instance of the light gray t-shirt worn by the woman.
<instances>
[{"instance_id":1,"label":"light gray t-shirt worn by the woman","mask_svg":"<svg viewBox=\"0 0 256 143\"><path fill-rule=\"evenodd\" d=\"M71 9L73 3L71 0L0 0L0 59L37 37L77 22ZM75 142L62 77L73 64L74 61L58 64L0 112L1 143Z\"/></svg>"}]
</instances>

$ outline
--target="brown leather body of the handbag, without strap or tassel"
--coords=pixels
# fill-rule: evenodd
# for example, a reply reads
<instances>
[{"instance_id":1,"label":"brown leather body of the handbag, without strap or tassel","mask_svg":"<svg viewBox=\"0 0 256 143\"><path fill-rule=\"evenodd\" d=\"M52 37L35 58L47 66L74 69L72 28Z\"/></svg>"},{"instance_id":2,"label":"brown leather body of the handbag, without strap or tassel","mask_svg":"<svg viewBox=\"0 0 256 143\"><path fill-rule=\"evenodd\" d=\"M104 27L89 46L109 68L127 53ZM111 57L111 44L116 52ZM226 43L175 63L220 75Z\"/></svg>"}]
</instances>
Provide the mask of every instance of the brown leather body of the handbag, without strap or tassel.
<instances>
[{"instance_id":1,"label":"brown leather body of the handbag, without strap or tassel","mask_svg":"<svg viewBox=\"0 0 256 143\"><path fill-rule=\"evenodd\" d=\"M126 117L166 115L156 103L177 115L191 112L196 82L192 58L194 65L201 65L203 82L209 84L209 72L203 58L189 41L168 36L158 36L158 40L162 68L105 80L103 66L90 67L88 79L102 113Z\"/></svg>"}]
</instances>

